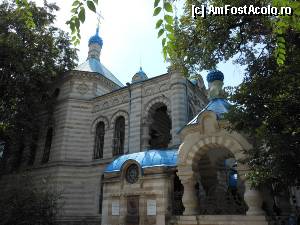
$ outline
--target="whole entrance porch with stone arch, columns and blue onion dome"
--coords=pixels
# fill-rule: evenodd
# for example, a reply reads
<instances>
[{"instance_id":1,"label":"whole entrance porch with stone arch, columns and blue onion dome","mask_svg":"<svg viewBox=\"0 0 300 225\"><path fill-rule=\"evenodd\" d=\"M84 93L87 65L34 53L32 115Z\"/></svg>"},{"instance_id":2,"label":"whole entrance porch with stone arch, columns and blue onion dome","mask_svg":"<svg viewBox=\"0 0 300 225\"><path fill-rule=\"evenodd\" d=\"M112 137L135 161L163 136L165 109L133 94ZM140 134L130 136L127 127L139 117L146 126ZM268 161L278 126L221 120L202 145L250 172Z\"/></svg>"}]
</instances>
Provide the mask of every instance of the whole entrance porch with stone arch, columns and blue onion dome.
<instances>
[{"instance_id":1,"label":"whole entrance porch with stone arch, columns and blue onion dome","mask_svg":"<svg viewBox=\"0 0 300 225\"><path fill-rule=\"evenodd\" d=\"M180 132L182 144L177 158L177 175L184 186L182 202L185 210L183 216L178 217L178 224L199 224L201 220L218 221L218 218L216 224L231 224L239 220L238 224L267 224L261 209L262 197L248 182L248 166L243 163L245 152L252 146L241 134L226 129L229 124L223 119L223 114L230 104L223 98L223 78L220 71L208 74L210 102ZM230 188L230 177L222 164L227 159L237 162L234 168L238 181L235 190ZM228 200L231 203L227 204ZM212 203L213 207L209 205ZM234 208L242 208L243 204L245 210ZM232 215L234 213L240 215Z\"/></svg>"}]
</instances>

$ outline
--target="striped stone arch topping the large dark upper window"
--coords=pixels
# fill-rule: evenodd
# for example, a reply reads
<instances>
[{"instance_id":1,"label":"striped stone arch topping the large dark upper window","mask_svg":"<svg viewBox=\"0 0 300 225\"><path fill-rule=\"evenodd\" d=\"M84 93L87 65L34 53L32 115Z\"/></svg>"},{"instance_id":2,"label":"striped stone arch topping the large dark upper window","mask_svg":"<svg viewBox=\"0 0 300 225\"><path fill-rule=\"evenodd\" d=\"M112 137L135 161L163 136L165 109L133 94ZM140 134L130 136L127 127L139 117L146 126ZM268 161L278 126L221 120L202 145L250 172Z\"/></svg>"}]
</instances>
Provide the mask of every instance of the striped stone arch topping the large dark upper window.
<instances>
[{"instance_id":1,"label":"striped stone arch topping the large dark upper window","mask_svg":"<svg viewBox=\"0 0 300 225\"><path fill-rule=\"evenodd\" d=\"M147 104L144 107L144 119L148 119L149 115L155 111L156 108L165 105L167 107L167 113L169 117L171 118L171 103L170 100L165 96L159 96L151 99L147 102Z\"/></svg>"}]
</instances>

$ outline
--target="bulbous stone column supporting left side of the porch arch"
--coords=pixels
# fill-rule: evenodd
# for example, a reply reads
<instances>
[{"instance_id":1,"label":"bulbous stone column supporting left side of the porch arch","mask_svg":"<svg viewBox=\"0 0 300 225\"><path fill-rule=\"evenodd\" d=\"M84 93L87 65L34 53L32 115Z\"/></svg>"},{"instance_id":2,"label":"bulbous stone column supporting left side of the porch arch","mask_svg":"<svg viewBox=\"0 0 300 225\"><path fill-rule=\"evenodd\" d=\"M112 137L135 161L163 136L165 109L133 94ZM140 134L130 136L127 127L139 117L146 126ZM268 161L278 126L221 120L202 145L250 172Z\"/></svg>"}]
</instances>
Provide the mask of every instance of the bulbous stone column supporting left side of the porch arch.
<instances>
[{"instance_id":1,"label":"bulbous stone column supporting left side of the porch arch","mask_svg":"<svg viewBox=\"0 0 300 225\"><path fill-rule=\"evenodd\" d=\"M184 205L183 215L197 215L198 210L198 198L195 190L195 181L192 178L182 179L182 185L184 186L184 192L182 196L182 203Z\"/></svg>"}]
</instances>

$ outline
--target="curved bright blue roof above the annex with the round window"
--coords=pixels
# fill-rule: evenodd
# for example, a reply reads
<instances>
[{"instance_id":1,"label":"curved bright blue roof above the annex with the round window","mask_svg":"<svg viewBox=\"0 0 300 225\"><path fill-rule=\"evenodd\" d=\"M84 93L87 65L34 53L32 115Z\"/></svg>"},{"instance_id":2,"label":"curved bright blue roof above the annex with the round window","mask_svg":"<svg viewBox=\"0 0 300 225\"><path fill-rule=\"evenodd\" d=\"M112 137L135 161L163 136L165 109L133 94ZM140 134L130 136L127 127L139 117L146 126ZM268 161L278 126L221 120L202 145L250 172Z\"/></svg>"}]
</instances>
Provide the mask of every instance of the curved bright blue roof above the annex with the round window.
<instances>
[{"instance_id":1,"label":"curved bright blue roof above the annex with the round window","mask_svg":"<svg viewBox=\"0 0 300 225\"><path fill-rule=\"evenodd\" d=\"M123 164L128 160L134 160L142 169L150 167L173 167L177 165L178 149L172 150L148 150L145 152L122 155L108 164L105 173L121 171Z\"/></svg>"}]
</instances>

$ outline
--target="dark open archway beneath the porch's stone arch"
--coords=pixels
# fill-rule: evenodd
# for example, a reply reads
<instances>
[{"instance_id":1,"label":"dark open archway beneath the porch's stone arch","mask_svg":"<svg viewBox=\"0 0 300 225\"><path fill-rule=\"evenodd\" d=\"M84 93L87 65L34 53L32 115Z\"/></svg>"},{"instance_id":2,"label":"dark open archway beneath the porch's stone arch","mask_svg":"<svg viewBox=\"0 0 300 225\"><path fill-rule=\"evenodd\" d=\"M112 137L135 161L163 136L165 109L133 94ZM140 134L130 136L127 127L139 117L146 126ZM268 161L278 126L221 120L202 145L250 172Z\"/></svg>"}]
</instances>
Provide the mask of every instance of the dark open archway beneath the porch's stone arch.
<instances>
[{"instance_id":1,"label":"dark open archway beneath the porch's stone arch","mask_svg":"<svg viewBox=\"0 0 300 225\"><path fill-rule=\"evenodd\" d=\"M246 214L244 185L238 179L233 154L222 148L212 148L195 162L196 195L199 214Z\"/></svg>"}]
</instances>

